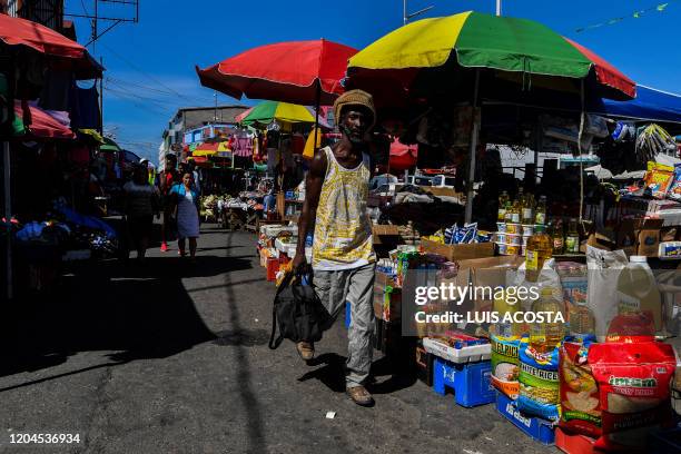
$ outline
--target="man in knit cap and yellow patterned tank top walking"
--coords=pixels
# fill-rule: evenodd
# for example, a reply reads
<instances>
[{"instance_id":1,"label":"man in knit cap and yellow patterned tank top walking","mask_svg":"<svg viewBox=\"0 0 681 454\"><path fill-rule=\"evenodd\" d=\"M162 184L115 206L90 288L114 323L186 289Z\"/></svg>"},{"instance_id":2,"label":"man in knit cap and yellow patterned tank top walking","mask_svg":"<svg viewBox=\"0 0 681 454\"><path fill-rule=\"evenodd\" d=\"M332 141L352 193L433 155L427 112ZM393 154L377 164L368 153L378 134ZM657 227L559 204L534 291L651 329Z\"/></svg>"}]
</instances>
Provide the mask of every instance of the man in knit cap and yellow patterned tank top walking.
<instances>
[{"instance_id":1,"label":"man in knit cap and yellow patterned tank top walking","mask_svg":"<svg viewBox=\"0 0 681 454\"><path fill-rule=\"evenodd\" d=\"M358 405L373 405L364 387L372 365L374 333L374 268L372 223L366 211L371 178L366 134L376 121L372 96L362 90L342 95L334 103L342 139L317 151L306 179L306 198L298 221L294 269L307 265L305 238L314 226L314 287L335 318L351 303L346 389ZM314 345L297 344L304 361L314 357Z\"/></svg>"}]
</instances>

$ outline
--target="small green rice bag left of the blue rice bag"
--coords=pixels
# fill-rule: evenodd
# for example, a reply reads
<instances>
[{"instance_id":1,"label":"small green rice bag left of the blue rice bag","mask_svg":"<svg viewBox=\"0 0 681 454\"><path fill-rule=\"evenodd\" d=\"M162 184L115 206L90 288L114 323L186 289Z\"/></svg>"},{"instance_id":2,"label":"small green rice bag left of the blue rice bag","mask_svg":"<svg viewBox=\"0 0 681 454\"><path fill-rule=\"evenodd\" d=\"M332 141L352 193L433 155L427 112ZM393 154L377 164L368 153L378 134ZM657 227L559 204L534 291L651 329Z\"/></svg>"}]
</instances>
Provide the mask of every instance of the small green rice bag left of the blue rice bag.
<instances>
[{"instance_id":1,"label":"small green rice bag left of the blue rice bag","mask_svg":"<svg viewBox=\"0 0 681 454\"><path fill-rule=\"evenodd\" d=\"M492 335L492 385L512 399L520 393L520 338Z\"/></svg>"}]
</instances>

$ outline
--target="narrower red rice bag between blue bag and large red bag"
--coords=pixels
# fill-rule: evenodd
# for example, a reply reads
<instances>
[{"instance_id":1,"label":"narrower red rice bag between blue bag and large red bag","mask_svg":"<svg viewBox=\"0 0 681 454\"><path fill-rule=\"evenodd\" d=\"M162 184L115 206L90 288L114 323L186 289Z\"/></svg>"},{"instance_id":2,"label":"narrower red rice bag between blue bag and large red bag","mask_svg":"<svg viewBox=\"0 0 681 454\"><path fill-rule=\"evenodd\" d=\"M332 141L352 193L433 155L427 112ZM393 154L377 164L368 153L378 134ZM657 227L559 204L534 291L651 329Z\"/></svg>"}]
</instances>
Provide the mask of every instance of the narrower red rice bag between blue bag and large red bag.
<instances>
[{"instance_id":1,"label":"narrower red rice bag between blue bag and large red bag","mask_svg":"<svg viewBox=\"0 0 681 454\"><path fill-rule=\"evenodd\" d=\"M601 436L599 388L589 364L594 336L566 337L560 349L561 421L569 432Z\"/></svg>"}]
</instances>

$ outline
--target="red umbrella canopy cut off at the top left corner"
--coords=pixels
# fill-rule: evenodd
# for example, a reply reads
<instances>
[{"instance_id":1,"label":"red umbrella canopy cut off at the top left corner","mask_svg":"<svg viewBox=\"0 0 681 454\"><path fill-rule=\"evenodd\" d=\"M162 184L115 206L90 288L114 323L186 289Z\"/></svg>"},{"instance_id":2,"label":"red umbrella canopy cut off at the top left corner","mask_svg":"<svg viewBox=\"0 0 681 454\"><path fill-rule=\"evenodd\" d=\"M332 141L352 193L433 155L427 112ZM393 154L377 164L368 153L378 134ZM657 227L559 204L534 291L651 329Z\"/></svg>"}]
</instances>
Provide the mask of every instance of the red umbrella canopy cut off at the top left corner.
<instances>
[{"instance_id":1,"label":"red umbrella canopy cut off at the top left corner","mask_svg":"<svg viewBox=\"0 0 681 454\"><path fill-rule=\"evenodd\" d=\"M0 40L8 46L26 46L50 57L68 59L75 63L79 79L100 77L103 69L85 47L30 20L0 14Z\"/></svg>"}]
</instances>

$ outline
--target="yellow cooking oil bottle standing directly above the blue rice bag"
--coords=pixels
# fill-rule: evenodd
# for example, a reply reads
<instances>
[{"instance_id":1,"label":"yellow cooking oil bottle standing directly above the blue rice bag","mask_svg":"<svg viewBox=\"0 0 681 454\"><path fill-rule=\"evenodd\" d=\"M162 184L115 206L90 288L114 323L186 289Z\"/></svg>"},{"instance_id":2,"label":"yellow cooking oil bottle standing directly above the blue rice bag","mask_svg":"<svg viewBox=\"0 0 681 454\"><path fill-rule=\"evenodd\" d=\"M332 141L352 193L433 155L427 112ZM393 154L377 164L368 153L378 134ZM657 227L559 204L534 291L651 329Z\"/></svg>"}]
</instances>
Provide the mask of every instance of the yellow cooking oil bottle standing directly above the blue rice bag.
<instances>
[{"instance_id":1,"label":"yellow cooking oil bottle standing directly above the blue rice bag","mask_svg":"<svg viewBox=\"0 0 681 454\"><path fill-rule=\"evenodd\" d=\"M563 340L565 324L555 322L557 313L563 313L563 304L553 294L553 288L542 288L541 297L532 304L532 312L542 313L544 322L530 325L530 346L540 353L551 352Z\"/></svg>"}]
</instances>

